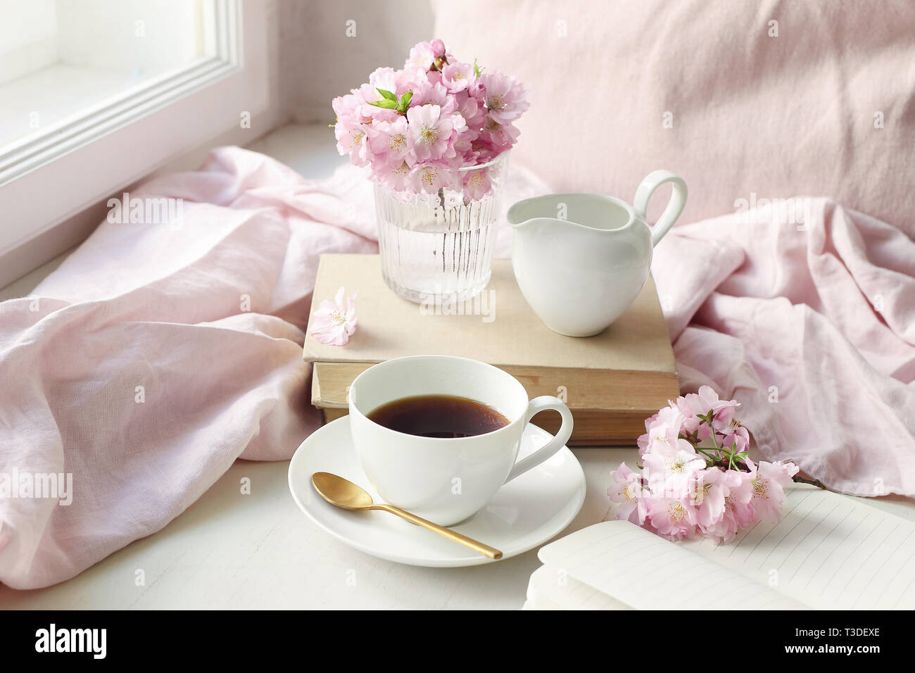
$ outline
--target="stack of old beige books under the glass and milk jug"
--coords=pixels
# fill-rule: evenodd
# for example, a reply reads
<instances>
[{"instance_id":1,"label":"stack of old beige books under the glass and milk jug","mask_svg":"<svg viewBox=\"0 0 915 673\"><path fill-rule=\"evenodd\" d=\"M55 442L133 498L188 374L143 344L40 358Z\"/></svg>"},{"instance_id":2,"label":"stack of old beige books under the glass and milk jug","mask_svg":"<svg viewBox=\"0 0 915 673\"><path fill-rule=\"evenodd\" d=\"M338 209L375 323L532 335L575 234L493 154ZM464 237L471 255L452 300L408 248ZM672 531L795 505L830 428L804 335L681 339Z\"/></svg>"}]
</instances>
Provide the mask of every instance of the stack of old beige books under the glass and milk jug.
<instances>
[{"instance_id":1,"label":"stack of old beige books under the glass and milk jug","mask_svg":"<svg viewBox=\"0 0 915 673\"><path fill-rule=\"evenodd\" d=\"M313 309L340 287L359 293L358 330L346 346L308 334L304 352L315 365L311 401L327 421L347 413L347 390L358 374L404 355L482 360L517 377L532 397L559 397L575 418L572 445L631 444L645 431L644 419L678 395L651 278L619 320L584 339L557 334L534 315L509 260L493 261L490 285L477 298L441 305L395 295L384 285L377 255L322 255ZM533 422L554 432L559 418L544 412Z\"/></svg>"}]
</instances>

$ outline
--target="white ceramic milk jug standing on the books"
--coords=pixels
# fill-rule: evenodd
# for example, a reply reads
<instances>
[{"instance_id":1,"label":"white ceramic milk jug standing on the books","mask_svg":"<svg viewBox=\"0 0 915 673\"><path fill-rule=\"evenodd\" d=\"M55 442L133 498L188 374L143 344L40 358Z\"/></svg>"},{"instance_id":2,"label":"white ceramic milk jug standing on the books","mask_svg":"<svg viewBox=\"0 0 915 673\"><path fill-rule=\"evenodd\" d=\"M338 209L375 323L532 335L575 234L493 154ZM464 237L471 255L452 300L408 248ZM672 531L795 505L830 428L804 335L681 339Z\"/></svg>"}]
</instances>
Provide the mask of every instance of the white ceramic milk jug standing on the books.
<instances>
[{"instance_id":1,"label":"white ceramic milk jug standing on the books","mask_svg":"<svg viewBox=\"0 0 915 673\"><path fill-rule=\"evenodd\" d=\"M645 220L654 190L671 182L667 208L653 227ZM655 170L635 202L602 194L548 194L515 203L511 265L524 299L547 327L587 337L619 318L639 295L651 251L686 204L684 179Z\"/></svg>"}]
</instances>

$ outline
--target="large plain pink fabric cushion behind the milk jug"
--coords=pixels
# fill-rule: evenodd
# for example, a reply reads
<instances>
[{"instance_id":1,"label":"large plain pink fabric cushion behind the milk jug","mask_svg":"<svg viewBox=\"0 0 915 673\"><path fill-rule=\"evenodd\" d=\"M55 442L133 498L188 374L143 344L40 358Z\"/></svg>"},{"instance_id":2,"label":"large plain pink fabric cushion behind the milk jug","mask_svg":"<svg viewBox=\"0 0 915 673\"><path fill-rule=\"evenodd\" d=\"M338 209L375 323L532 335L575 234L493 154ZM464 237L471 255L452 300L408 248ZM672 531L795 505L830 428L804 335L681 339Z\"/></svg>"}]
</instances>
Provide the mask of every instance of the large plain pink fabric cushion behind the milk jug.
<instances>
[{"instance_id":1,"label":"large plain pink fabric cushion behind the milk jug","mask_svg":"<svg viewBox=\"0 0 915 673\"><path fill-rule=\"evenodd\" d=\"M513 153L554 190L631 202L643 176L668 168L690 190L681 223L823 195L915 237L915 3L434 9L436 37L458 58L529 89Z\"/></svg>"}]
</instances>

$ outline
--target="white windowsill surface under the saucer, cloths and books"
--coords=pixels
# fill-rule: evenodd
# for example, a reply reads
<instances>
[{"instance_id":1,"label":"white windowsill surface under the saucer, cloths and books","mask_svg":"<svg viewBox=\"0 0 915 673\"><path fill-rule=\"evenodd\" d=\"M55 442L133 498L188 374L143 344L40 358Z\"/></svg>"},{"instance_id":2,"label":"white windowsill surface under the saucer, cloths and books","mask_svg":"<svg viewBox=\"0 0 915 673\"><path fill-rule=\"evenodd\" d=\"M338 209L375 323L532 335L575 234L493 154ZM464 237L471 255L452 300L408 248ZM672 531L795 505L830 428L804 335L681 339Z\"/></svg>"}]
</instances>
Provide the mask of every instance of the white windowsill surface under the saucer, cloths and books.
<instances>
[{"instance_id":1,"label":"white windowsill surface under the saucer, cloths and books","mask_svg":"<svg viewBox=\"0 0 915 673\"><path fill-rule=\"evenodd\" d=\"M324 129L326 131L326 129ZM306 177L329 174L328 144L314 129L286 126L252 148ZM326 136L326 134L324 134ZM332 156L332 146L329 147ZM37 282L37 281L36 281ZM587 497L563 535L601 521L609 472L635 449L576 449ZM540 565L536 550L473 568L416 568L375 559L330 537L301 513L286 483L288 461L236 461L198 502L137 540L47 589L0 587L5 609L330 608L518 609ZM242 494L243 477L251 494ZM869 500L915 519L915 503ZM386 516L384 513L375 513ZM138 585L137 570L145 582Z\"/></svg>"}]
</instances>

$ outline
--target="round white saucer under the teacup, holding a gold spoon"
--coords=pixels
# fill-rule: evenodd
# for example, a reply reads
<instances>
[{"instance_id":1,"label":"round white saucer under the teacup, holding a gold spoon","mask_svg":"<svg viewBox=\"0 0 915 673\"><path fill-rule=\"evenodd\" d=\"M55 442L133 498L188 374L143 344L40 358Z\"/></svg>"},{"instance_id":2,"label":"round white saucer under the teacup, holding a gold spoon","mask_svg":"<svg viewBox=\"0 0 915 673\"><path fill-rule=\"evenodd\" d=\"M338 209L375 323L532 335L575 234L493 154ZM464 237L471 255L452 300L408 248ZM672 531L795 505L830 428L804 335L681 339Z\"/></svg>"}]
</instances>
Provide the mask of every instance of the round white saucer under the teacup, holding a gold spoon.
<instances>
[{"instance_id":1,"label":"round white saucer under the teacup, holding a gold spoon","mask_svg":"<svg viewBox=\"0 0 915 673\"><path fill-rule=\"evenodd\" d=\"M520 458L552 439L545 430L524 430ZM321 499L311 485L315 472L332 472L358 483L381 502L362 472L344 416L313 432L289 463L289 490L302 511L340 541L381 559L414 566L450 568L493 563L468 548L387 512L350 512ZM458 526L464 535L501 550L502 558L522 554L560 533L585 502L585 473L563 447L529 472L507 483L476 515Z\"/></svg>"}]
</instances>

